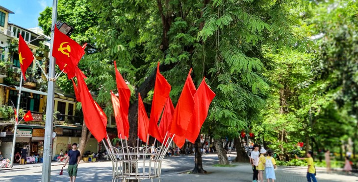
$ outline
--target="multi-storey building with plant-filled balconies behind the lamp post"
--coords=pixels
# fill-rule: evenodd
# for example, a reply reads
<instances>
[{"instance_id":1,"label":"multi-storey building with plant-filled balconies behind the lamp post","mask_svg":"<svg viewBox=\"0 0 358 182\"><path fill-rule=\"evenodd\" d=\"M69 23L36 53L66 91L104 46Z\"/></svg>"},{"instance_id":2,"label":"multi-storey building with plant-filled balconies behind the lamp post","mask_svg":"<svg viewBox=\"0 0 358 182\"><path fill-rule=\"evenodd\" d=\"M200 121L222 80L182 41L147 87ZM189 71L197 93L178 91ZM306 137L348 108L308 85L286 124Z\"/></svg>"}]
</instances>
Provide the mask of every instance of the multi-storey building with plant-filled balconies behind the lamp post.
<instances>
[{"instance_id":1,"label":"multi-storey building with plant-filled balconies behind the lamp post","mask_svg":"<svg viewBox=\"0 0 358 182\"><path fill-rule=\"evenodd\" d=\"M4 158L10 158L11 146L16 135L15 154L21 148L28 148L28 156L43 155L45 118L47 107L47 80L39 65L48 72L49 38L39 28L26 29L8 23L14 12L0 5L0 151ZM20 115L31 111L33 121L21 121L18 130L14 131L14 109L16 108L20 89L20 61L18 40L21 35L38 64L34 61L26 71L26 81L22 85L20 96ZM71 148L71 143L79 143L83 119L76 113L76 97L66 95L56 88L54 98L53 155ZM80 143L79 143L80 144ZM95 138L88 141L86 151L97 152L99 144Z\"/></svg>"}]
</instances>

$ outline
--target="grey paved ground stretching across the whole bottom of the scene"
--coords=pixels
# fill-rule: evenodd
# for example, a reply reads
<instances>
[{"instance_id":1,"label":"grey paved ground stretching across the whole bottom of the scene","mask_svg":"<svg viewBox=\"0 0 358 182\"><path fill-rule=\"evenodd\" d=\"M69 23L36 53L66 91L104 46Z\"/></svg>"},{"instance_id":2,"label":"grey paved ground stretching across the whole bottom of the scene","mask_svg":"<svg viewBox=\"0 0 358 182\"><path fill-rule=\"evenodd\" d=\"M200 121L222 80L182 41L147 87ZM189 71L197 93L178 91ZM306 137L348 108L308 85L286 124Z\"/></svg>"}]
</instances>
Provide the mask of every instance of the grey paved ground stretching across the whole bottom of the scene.
<instances>
[{"instance_id":1,"label":"grey paved ground stretching across the whole bottom of the scene","mask_svg":"<svg viewBox=\"0 0 358 182\"><path fill-rule=\"evenodd\" d=\"M234 154L230 155L234 158ZM163 162L161 182L251 182L252 170L248 163L234 163L235 167L213 167L218 159L215 154L203 156L204 169L209 172L205 175L186 174L194 166L194 156L167 157ZM51 167L51 182L68 181L68 173L64 169L63 175L59 172L62 165ZM39 182L41 179L41 165L26 164L29 168L1 170L1 182ZM15 166L20 167L20 166ZM21 166L23 167L23 166ZM27 167L27 166L26 166ZM67 169L67 167L66 167ZM275 171L277 182L305 182L306 167L281 167ZM80 163L77 182L111 182L111 162L99 161ZM327 174L324 169L317 169L318 182L358 182L357 174L345 175L342 172ZM154 182L157 180L154 179ZM150 182L150 180L143 180Z\"/></svg>"}]
</instances>

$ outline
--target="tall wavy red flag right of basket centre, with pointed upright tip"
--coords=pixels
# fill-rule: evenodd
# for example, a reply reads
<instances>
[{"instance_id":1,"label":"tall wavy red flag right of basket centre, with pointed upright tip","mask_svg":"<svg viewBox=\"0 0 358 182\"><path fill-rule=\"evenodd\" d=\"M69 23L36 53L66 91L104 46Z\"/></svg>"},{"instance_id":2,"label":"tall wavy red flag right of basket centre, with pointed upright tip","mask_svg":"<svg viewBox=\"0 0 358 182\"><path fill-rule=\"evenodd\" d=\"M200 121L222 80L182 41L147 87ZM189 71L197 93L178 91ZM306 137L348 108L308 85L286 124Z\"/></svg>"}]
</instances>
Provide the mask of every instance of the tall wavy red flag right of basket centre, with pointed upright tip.
<instances>
[{"instance_id":1,"label":"tall wavy red flag right of basket centre, with pointed upright tip","mask_svg":"<svg viewBox=\"0 0 358 182\"><path fill-rule=\"evenodd\" d=\"M163 142L163 136L160 135L158 129L158 121L160 114L163 111L165 102L169 97L169 92L171 90L171 86L164 78L162 74L159 72L159 62L156 68L156 76L155 76L155 85L154 85L154 94L152 101L152 110L151 110L151 118L149 120L149 135L156 138L158 141Z\"/></svg>"}]
</instances>

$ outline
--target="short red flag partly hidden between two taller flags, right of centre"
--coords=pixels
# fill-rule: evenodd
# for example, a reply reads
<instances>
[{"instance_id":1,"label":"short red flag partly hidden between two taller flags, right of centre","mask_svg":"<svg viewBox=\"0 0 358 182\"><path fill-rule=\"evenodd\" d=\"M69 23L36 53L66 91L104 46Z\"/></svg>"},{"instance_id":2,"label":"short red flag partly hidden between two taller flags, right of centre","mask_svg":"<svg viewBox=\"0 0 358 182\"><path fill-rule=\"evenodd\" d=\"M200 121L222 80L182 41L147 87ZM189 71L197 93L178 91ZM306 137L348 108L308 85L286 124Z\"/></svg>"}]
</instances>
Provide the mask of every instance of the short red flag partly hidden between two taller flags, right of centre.
<instances>
[{"instance_id":1,"label":"short red flag partly hidden between two taller flags, right of centre","mask_svg":"<svg viewBox=\"0 0 358 182\"><path fill-rule=\"evenodd\" d=\"M170 130L173 114L174 114L174 106L172 100L170 99L170 97L168 97L159 124L159 132L162 137L165 137L165 134ZM169 137L168 135L167 138Z\"/></svg>"}]
</instances>

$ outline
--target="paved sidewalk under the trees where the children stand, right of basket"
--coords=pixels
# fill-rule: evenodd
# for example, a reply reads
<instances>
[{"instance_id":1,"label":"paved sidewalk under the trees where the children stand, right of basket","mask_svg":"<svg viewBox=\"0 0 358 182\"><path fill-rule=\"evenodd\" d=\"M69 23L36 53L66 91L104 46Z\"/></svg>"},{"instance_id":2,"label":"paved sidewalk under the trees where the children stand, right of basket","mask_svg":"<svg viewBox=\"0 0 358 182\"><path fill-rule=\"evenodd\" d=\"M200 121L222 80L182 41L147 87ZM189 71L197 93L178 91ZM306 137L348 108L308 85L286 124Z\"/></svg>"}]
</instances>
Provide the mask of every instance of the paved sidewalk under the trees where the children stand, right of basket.
<instances>
[{"instance_id":1,"label":"paved sidewalk under the trees where the children stand, right of basket","mask_svg":"<svg viewBox=\"0 0 358 182\"><path fill-rule=\"evenodd\" d=\"M233 163L233 165L237 166L204 167L209 174L186 174L184 171L166 174L161 176L160 182L252 182L253 171L250 164ZM275 171L275 182L307 182L306 172L307 168L279 166ZM318 182L358 182L357 174L345 175L342 172L327 174L321 169L317 170L316 178ZM150 180L143 180L143 182L150 182ZM264 182L266 182L265 177Z\"/></svg>"}]
</instances>

